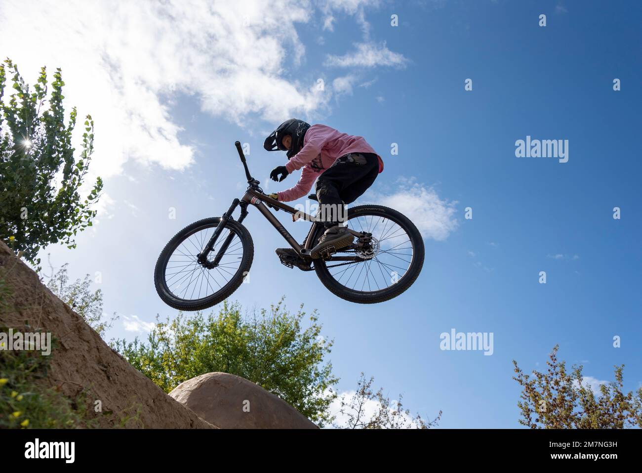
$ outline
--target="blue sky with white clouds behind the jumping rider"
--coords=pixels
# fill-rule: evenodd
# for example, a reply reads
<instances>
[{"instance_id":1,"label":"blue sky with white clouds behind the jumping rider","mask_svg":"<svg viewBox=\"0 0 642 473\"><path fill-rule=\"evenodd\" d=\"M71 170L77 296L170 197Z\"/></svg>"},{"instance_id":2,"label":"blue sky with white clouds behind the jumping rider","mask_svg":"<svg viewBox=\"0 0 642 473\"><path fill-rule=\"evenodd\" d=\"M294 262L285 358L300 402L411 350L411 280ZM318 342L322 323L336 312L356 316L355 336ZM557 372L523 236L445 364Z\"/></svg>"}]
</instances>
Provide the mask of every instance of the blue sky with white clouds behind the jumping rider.
<instances>
[{"instance_id":1,"label":"blue sky with white clouds behind the jumping rider","mask_svg":"<svg viewBox=\"0 0 642 473\"><path fill-rule=\"evenodd\" d=\"M153 285L162 247L245 189L234 141L265 191L295 184L268 181L286 157L262 146L295 116L367 139L385 170L356 204L397 208L426 245L408 291L356 305L281 265L284 240L250 209L250 282L230 300L316 308L340 392L364 371L413 413L442 410L440 427L517 428L512 360L545 370L555 344L594 386L625 364L638 389L641 19L636 1L0 0L3 57L31 84L62 68L105 181L96 224L76 249L42 251L44 274L100 274L119 315L107 339L145 338L177 314ZM566 157L517 157L527 136ZM453 329L492 334L492 354L442 350Z\"/></svg>"}]
</instances>

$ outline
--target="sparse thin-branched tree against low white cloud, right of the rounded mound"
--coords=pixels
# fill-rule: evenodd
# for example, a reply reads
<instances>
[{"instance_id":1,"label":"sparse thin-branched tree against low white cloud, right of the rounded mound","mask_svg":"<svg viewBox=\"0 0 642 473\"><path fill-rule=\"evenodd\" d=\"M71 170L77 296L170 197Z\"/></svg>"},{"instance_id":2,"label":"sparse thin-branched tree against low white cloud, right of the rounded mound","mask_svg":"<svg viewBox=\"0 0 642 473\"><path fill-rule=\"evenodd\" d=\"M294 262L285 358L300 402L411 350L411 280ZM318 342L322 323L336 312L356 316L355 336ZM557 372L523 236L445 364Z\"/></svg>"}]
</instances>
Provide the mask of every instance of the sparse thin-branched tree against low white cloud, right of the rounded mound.
<instances>
[{"instance_id":1,"label":"sparse thin-branched tree against low white cloud, right of the rounded mound","mask_svg":"<svg viewBox=\"0 0 642 473\"><path fill-rule=\"evenodd\" d=\"M348 397L340 399L339 413L342 415L342 424L333 424L338 429L429 429L438 425L442 416L439 411L437 417L426 423L419 414L412 416L410 409L404 409L402 395L399 400L391 401L383 394L383 388L375 393L372 391L374 377L369 380L361 373L357 383L358 389Z\"/></svg>"}]
</instances>

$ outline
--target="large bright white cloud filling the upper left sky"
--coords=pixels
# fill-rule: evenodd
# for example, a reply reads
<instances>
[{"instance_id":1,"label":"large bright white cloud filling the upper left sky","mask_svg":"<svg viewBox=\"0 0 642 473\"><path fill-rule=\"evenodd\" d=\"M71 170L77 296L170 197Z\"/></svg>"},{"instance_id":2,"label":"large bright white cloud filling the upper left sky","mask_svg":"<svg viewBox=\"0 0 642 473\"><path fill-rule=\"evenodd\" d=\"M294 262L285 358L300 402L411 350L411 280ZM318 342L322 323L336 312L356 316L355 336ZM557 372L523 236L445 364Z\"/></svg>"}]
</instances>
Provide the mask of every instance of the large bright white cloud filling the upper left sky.
<instances>
[{"instance_id":1,"label":"large bright white cloud filling the upper left sky","mask_svg":"<svg viewBox=\"0 0 642 473\"><path fill-rule=\"evenodd\" d=\"M3 2L0 44L27 82L62 68L68 108L96 123L92 174L118 174L130 158L182 170L194 150L169 114L177 92L237 123L323 109L327 96L287 71L305 53L295 24L312 13L299 0Z\"/></svg>"}]
</instances>

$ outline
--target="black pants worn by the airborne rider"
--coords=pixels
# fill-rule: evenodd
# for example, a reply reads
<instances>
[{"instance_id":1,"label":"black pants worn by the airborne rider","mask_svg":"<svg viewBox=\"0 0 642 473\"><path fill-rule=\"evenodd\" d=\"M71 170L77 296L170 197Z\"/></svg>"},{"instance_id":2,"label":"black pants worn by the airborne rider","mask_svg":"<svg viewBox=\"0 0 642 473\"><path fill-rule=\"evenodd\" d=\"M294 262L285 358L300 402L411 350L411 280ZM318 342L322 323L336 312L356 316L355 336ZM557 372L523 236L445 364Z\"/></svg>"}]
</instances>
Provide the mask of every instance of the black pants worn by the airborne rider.
<instances>
[{"instance_id":1,"label":"black pants worn by the airborne rider","mask_svg":"<svg viewBox=\"0 0 642 473\"><path fill-rule=\"evenodd\" d=\"M349 153L334 161L317 179L317 199L325 228L345 220L345 204L356 201L379 174L374 153Z\"/></svg>"}]
</instances>

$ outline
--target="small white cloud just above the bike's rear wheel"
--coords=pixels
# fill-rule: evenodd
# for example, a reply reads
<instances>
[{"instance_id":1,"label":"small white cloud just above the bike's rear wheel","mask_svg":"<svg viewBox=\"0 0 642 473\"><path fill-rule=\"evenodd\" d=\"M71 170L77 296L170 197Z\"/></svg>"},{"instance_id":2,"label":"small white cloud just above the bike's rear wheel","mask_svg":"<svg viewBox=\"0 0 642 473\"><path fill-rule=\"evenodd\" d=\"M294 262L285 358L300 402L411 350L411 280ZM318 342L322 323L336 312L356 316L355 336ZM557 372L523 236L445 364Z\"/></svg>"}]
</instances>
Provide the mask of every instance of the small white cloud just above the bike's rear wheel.
<instances>
[{"instance_id":1,"label":"small white cloud just above the bike's rear wheel","mask_svg":"<svg viewBox=\"0 0 642 473\"><path fill-rule=\"evenodd\" d=\"M446 240L458 227L455 205L440 199L432 187L402 179L392 194L374 193L372 202L397 210L417 226L424 238Z\"/></svg>"}]
</instances>

